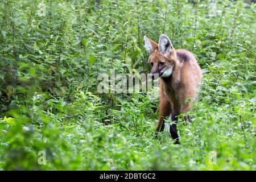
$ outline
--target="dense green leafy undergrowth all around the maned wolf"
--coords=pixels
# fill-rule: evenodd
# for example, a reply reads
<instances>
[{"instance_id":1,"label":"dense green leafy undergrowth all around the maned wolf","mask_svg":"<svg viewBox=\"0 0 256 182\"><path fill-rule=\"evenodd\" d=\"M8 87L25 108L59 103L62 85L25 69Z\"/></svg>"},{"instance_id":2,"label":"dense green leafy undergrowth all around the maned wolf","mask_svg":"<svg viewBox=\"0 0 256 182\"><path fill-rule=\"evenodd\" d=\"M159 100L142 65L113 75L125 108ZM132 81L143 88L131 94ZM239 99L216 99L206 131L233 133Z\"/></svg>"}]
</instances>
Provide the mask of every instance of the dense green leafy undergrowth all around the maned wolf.
<instances>
[{"instance_id":1,"label":"dense green leafy undergrowth all around the maned wolf","mask_svg":"<svg viewBox=\"0 0 256 182\"><path fill-rule=\"evenodd\" d=\"M214 7L2 0L0 169L255 170L255 5ZM150 93L97 93L98 74L111 68L148 73L143 36L162 33L192 51L204 72L193 121L178 123L180 145L167 131L154 138L158 100Z\"/></svg>"}]
</instances>

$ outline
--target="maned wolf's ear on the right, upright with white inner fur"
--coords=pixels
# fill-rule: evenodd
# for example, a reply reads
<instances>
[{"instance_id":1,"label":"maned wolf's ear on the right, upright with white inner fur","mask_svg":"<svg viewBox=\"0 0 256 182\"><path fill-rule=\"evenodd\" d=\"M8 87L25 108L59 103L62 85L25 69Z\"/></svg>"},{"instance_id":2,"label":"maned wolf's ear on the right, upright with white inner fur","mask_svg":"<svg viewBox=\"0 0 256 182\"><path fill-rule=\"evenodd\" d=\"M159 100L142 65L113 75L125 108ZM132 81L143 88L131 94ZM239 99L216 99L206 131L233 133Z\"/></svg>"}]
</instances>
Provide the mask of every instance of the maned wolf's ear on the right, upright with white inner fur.
<instances>
[{"instance_id":1,"label":"maned wolf's ear on the right, upright with white inner fur","mask_svg":"<svg viewBox=\"0 0 256 182\"><path fill-rule=\"evenodd\" d=\"M174 50L171 40L168 38L168 36L164 34L160 35L158 45L159 52L162 53L164 56L170 55L170 53Z\"/></svg>"}]
</instances>

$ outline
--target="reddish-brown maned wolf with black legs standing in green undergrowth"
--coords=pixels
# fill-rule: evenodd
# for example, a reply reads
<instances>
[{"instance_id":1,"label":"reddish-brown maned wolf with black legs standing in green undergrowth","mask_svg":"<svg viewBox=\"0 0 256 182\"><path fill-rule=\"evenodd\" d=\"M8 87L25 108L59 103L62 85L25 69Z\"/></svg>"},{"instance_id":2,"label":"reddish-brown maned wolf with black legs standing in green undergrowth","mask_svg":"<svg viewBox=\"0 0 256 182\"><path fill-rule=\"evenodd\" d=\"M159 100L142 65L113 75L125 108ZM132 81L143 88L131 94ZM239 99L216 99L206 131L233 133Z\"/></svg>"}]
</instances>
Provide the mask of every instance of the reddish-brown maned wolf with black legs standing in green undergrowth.
<instances>
[{"instance_id":1,"label":"reddish-brown maned wolf with black legs standing in green undergrowth","mask_svg":"<svg viewBox=\"0 0 256 182\"><path fill-rule=\"evenodd\" d=\"M197 97L201 69L195 56L185 49L174 49L171 40L166 35L160 35L159 43L144 36L145 48L150 53L151 76L159 74L160 102L159 121L156 134L164 129L164 117L174 121L170 125L170 133L175 143L179 143L176 122L177 115L189 111L192 100ZM184 119L190 121L190 117Z\"/></svg>"}]
</instances>

